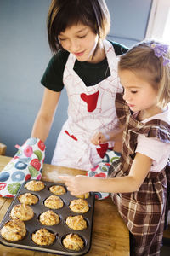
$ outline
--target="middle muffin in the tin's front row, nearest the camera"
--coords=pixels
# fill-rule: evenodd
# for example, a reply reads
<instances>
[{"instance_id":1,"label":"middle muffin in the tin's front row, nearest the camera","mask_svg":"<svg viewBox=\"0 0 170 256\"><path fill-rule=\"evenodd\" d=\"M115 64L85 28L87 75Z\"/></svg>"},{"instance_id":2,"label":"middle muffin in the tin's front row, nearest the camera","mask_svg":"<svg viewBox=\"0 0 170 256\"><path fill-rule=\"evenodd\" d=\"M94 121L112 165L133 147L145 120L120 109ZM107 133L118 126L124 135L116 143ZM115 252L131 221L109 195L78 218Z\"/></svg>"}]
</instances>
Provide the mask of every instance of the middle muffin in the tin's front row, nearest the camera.
<instances>
[{"instance_id":1,"label":"middle muffin in the tin's front row, nearest the camera","mask_svg":"<svg viewBox=\"0 0 170 256\"><path fill-rule=\"evenodd\" d=\"M46 229L40 229L33 233L31 238L37 245L48 246L54 243L55 235Z\"/></svg>"}]
</instances>

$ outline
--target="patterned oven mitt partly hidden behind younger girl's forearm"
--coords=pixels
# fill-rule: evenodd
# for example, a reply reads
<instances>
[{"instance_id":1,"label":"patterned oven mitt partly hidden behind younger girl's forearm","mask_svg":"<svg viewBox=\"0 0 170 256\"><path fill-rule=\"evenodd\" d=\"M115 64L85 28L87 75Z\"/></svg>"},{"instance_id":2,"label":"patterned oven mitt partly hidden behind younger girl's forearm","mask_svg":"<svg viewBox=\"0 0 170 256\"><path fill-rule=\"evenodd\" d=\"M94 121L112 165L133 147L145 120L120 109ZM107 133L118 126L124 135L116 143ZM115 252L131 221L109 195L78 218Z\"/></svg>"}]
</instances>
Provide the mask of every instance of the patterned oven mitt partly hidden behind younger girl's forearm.
<instances>
[{"instance_id":1,"label":"patterned oven mitt partly hidden behind younger girl's forearm","mask_svg":"<svg viewBox=\"0 0 170 256\"><path fill-rule=\"evenodd\" d=\"M101 162L87 172L88 177L108 177L111 164L120 158L121 154L113 150L107 150ZM95 192L95 198L102 200L109 197L110 193Z\"/></svg>"}]
</instances>

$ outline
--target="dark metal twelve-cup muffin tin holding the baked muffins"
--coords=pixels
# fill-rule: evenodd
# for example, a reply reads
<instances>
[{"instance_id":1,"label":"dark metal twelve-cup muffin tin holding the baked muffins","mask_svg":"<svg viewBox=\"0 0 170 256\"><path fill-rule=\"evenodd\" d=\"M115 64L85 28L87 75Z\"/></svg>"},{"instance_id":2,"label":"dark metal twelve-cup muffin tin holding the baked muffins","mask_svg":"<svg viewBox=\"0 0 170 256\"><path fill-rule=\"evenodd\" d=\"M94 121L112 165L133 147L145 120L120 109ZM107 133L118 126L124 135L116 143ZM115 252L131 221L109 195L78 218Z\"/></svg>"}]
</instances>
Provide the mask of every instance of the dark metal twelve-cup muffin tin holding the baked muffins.
<instances>
[{"instance_id":1,"label":"dark metal twelve-cup muffin tin holding the baked muffins","mask_svg":"<svg viewBox=\"0 0 170 256\"><path fill-rule=\"evenodd\" d=\"M30 249L35 251L40 251L44 253L59 253L61 255L83 255L85 253L88 253L90 247L91 247L91 240L92 240L92 229L93 229L93 218L94 218L94 193L90 192L90 196L88 199L85 199L88 201L89 210L85 213L77 213L72 212L69 208L69 204L72 200L78 199L75 196L72 196L69 191L66 189L65 195L58 195L63 201L64 201L64 207L60 209L49 209L48 207L45 207L43 202L45 199L48 198L50 195L54 195L52 192L49 191L49 188L53 185L62 185L65 187L63 183L52 183L52 182L44 182L45 188L41 191L30 191L26 189L25 185L26 183L23 183L20 187L20 190L18 191L17 195L14 197L14 201L11 203L10 207L8 208L8 212L6 212L2 223L0 224L0 229L3 227L3 225L8 222L10 219L9 214L12 210L12 208L20 204L20 201L18 201L18 196L21 194L25 194L26 192L30 192L33 195L37 195L39 201L35 205L31 205L30 207L34 211L34 217L31 218L31 220L25 221L26 224L26 230L27 234L26 236L20 240L20 241L6 241L3 239L2 236L0 236L0 242L4 246L8 247L18 247L23 249ZM52 210L59 214L60 222L59 224L56 224L54 226L46 226L40 223L39 216L42 212L46 212L48 210ZM75 215L82 215L86 221L87 221L87 229L86 230L71 230L66 224L65 224L65 218L68 216L75 216ZM55 241L50 246L38 246L31 240L31 234L35 231L45 228L48 231L54 233L55 235ZM78 234L81 236L82 240L84 241L84 247L80 251L72 251L67 248L65 248L62 245L62 240L65 238L67 234Z\"/></svg>"}]
</instances>

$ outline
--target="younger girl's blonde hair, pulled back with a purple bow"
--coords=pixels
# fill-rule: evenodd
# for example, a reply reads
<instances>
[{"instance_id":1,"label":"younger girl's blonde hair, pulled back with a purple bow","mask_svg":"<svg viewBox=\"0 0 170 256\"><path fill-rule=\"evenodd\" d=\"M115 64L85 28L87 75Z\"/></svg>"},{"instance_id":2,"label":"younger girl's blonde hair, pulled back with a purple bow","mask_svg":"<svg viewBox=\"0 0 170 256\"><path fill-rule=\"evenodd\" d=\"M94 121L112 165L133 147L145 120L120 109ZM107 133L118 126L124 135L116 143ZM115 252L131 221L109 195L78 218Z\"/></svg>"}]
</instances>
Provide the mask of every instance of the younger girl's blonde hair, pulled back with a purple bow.
<instances>
[{"instance_id":1,"label":"younger girl's blonde hair, pulled back with a purple bow","mask_svg":"<svg viewBox=\"0 0 170 256\"><path fill-rule=\"evenodd\" d=\"M163 65L164 57L170 60L170 50L163 56L157 57L153 44L160 44L154 40L142 41L122 55L119 70L130 70L146 80L157 92L158 105L165 107L170 102L170 62Z\"/></svg>"}]
</instances>

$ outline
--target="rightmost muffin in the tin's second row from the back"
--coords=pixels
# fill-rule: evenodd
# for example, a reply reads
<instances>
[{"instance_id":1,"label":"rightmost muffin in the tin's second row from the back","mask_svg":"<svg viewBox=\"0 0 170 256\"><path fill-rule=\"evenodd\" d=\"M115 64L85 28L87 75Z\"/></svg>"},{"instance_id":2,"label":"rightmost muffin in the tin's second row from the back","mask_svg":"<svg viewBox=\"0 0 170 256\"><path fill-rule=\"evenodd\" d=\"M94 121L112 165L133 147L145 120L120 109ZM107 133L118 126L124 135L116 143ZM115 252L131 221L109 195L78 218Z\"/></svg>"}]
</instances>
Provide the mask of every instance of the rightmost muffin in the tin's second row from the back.
<instances>
[{"instance_id":1,"label":"rightmost muffin in the tin's second row from the back","mask_svg":"<svg viewBox=\"0 0 170 256\"><path fill-rule=\"evenodd\" d=\"M88 212L89 210L88 202L82 198L71 201L69 207L71 211L78 212L78 213Z\"/></svg>"}]
</instances>

